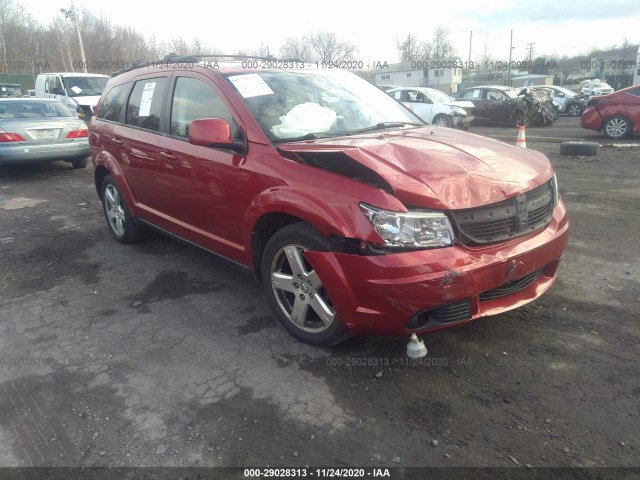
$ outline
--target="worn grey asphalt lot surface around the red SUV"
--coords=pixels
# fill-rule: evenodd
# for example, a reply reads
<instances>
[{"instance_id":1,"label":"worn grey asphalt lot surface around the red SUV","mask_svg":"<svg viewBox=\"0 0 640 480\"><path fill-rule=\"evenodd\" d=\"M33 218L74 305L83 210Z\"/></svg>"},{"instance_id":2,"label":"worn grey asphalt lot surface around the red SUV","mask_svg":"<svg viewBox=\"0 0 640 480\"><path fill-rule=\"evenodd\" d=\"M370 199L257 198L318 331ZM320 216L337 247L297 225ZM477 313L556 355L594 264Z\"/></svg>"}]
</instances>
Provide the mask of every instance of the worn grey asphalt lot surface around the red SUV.
<instances>
[{"instance_id":1,"label":"worn grey asphalt lot surface around the red SUV","mask_svg":"<svg viewBox=\"0 0 640 480\"><path fill-rule=\"evenodd\" d=\"M406 338L310 347L212 255L115 242L91 166L9 169L0 464L637 466L640 148L560 156L569 138L612 143L579 118L527 130L572 221L554 287L425 337L418 362Z\"/></svg>"}]
</instances>

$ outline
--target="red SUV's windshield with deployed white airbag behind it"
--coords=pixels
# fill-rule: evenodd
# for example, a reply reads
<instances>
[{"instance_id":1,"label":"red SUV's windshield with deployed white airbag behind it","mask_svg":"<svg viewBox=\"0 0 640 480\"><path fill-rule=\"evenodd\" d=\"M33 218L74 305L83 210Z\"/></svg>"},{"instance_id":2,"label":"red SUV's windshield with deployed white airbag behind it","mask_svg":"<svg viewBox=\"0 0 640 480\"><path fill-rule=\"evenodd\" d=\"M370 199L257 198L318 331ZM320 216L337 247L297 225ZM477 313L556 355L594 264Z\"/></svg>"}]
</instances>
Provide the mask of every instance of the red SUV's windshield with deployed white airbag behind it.
<instances>
[{"instance_id":1,"label":"red SUV's windshield with deployed white airbag behind it","mask_svg":"<svg viewBox=\"0 0 640 480\"><path fill-rule=\"evenodd\" d=\"M424 124L378 87L350 72L261 71L226 78L271 141Z\"/></svg>"}]
</instances>

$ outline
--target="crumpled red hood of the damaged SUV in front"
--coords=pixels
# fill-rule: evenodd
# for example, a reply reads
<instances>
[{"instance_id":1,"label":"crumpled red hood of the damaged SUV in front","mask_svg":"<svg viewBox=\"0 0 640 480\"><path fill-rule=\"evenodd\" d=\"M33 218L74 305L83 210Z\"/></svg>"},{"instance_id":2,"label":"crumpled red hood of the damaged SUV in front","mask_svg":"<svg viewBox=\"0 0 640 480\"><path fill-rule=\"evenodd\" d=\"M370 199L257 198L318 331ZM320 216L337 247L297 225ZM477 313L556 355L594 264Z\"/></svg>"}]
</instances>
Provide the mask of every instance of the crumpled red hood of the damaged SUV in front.
<instances>
[{"instance_id":1,"label":"crumpled red hood of the damaged SUV in front","mask_svg":"<svg viewBox=\"0 0 640 480\"><path fill-rule=\"evenodd\" d=\"M404 205L424 208L463 209L496 203L540 186L553 175L542 153L434 126L280 144L278 148L301 154L341 151L384 178Z\"/></svg>"}]
</instances>

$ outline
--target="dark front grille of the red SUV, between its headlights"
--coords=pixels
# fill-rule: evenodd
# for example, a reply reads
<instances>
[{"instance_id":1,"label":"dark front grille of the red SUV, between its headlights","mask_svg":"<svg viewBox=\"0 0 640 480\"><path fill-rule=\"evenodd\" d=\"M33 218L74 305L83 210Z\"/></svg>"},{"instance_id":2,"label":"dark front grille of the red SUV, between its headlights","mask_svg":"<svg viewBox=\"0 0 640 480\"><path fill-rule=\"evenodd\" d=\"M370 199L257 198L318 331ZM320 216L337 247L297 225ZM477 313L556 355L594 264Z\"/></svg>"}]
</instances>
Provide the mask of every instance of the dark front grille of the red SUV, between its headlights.
<instances>
[{"instance_id":1,"label":"dark front grille of the red SUV, between its headlights","mask_svg":"<svg viewBox=\"0 0 640 480\"><path fill-rule=\"evenodd\" d=\"M533 190L492 205L454 210L453 219L463 243L479 245L519 237L551 221L554 179Z\"/></svg>"}]
</instances>

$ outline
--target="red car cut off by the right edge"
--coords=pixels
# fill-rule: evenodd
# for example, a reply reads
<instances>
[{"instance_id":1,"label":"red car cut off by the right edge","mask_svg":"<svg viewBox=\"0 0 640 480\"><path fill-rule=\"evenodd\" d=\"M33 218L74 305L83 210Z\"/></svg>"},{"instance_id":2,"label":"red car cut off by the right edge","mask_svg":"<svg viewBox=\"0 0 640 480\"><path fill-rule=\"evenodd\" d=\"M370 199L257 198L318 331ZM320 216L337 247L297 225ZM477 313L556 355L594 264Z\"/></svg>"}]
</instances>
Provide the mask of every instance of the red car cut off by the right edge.
<instances>
[{"instance_id":1,"label":"red car cut off by the right edge","mask_svg":"<svg viewBox=\"0 0 640 480\"><path fill-rule=\"evenodd\" d=\"M640 86L591 98L580 118L582 128L597 130L609 138L640 133Z\"/></svg>"}]
</instances>

